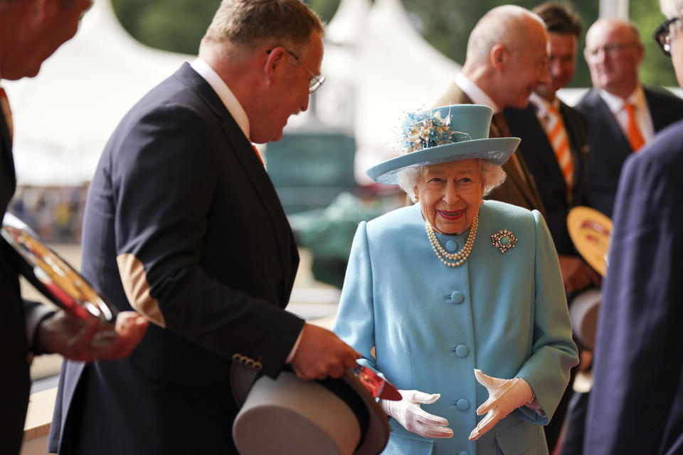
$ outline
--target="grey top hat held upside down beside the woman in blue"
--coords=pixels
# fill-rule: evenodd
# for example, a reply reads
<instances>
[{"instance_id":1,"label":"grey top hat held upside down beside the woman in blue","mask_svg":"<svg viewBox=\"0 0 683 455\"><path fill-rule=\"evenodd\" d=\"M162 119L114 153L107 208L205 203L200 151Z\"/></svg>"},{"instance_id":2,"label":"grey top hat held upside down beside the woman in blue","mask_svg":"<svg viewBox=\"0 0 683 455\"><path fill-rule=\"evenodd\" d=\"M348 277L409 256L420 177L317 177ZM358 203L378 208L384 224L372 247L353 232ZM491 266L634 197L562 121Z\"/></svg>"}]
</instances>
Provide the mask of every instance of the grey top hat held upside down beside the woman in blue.
<instances>
[{"instance_id":1,"label":"grey top hat held upside down beside the woman in blue","mask_svg":"<svg viewBox=\"0 0 683 455\"><path fill-rule=\"evenodd\" d=\"M233 394L243 402L233 423L241 455L376 455L386 446L386 414L349 370L339 379L312 381L282 371L277 379L261 376L250 388L249 370L231 366Z\"/></svg>"}]
</instances>

